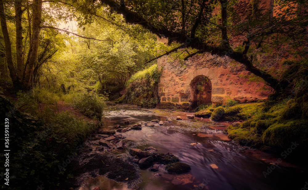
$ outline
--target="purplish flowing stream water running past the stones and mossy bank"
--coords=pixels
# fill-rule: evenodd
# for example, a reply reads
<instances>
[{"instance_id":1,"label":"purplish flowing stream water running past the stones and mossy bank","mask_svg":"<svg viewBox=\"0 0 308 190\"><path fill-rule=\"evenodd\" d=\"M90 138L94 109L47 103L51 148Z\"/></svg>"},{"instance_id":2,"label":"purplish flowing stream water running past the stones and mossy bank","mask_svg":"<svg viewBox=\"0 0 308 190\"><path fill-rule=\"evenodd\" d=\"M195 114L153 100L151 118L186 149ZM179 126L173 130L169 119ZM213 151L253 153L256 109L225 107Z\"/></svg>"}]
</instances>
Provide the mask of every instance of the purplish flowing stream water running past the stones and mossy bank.
<instances>
[{"instance_id":1,"label":"purplish flowing stream water running past the stones and mossy bank","mask_svg":"<svg viewBox=\"0 0 308 190\"><path fill-rule=\"evenodd\" d=\"M222 133L225 126L217 129L215 127L217 123L204 119L198 121L201 125L205 124L205 127L201 126L201 132L179 130L185 128L187 122L196 120L177 122L174 116L182 115L182 118L185 118L185 113L159 110L157 114L153 111L156 110L128 105L110 106L110 110L104 112L104 127L116 124L125 126L123 125L125 120L130 120L130 124L134 124L141 121L150 122L152 119L165 121L167 117L173 118L173 122L164 123L164 126L145 126L142 130L130 130L121 134L126 136L127 140L139 143L140 146L136 148L141 150L152 146L158 152L170 152L176 155L180 162L189 164L192 170L183 174L168 174L164 171L163 165L157 165L160 168L157 172L149 169L141 170L143 182L138 184L136 188L138 190L301 190L308 181L305 169L275 166L246 154L243 151L245 147L232 143ZM164 114L161 114L162 112ZM194 142L197 145L190 145ZM277 161L278 158L273 160ZM264 172L268 173L266 177ZM161 176L154 176L155 173L160 173ZM93 184L97 184L98 181L101 190L128 189L125 184L118 184L100 176L89 180L79 190L91 190L94 188Z\"/></svg>"}]
</instances>

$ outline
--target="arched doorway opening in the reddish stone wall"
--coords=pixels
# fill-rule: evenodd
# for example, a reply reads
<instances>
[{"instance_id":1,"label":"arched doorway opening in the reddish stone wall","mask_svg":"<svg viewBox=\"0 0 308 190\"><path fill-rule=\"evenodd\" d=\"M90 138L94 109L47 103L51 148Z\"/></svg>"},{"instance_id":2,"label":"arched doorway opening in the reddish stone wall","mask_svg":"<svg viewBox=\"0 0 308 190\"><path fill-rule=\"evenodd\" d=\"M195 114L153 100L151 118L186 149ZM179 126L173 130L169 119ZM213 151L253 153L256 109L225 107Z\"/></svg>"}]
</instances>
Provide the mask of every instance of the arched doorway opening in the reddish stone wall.
<instances>
[{"instance_id":1,"label":"arched doorway opening in the reddish stone wall","mask_svg":"<svg viewBox=\"0 0 308 190\"><path fill-rule=\"evenodd\" d=\"M212 83L204 75L196 76L190 83L192 105L212 103Z\"/></svg>"}]
</instances>

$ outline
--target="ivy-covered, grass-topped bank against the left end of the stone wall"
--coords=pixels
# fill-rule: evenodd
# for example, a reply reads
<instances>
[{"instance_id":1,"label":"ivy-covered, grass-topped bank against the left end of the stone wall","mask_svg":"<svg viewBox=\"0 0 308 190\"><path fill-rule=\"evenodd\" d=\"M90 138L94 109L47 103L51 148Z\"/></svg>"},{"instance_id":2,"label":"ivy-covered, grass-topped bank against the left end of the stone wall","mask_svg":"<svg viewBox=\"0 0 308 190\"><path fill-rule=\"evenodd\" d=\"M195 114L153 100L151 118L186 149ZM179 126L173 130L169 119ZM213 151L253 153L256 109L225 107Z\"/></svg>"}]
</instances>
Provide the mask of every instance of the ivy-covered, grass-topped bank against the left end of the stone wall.
<instances>
[{"instance_id":1,"label":"ivy-covered, grass-topped bank against the left end of the stone wall","mask_svg":"<svg viewBox=\"0 0 308 190\"><path fill-rule=\"evenodd\" d=\"M143 107L156 107L159 102L158 81L160 71L157 64L137 72L128 80L125 94L116 102L124 102Z\"/></svg>"}]
</instances>

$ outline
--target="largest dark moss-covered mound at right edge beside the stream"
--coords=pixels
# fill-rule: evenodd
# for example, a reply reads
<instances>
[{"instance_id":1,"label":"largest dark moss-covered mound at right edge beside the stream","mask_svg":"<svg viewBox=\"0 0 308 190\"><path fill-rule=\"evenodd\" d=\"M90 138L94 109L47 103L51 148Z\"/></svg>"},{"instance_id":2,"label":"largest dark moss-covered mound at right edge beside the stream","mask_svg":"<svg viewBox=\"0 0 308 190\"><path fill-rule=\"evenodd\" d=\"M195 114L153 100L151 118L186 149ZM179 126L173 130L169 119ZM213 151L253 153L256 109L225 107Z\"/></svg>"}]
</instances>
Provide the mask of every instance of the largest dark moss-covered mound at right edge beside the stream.
<instances>
[{"instance_id":1,"label":"largest dark moss-covered mound at right edge beside the stream","mask_svg":"<svg viewBox=\"0 0 308 190\"><path fill-rule=\"evenodd\" d=\"M308 120L293 120L274 123L262 135L265 145L289 148L292 142L297 142L303 149L308 148Z\"/></svg>"}]
</instances>

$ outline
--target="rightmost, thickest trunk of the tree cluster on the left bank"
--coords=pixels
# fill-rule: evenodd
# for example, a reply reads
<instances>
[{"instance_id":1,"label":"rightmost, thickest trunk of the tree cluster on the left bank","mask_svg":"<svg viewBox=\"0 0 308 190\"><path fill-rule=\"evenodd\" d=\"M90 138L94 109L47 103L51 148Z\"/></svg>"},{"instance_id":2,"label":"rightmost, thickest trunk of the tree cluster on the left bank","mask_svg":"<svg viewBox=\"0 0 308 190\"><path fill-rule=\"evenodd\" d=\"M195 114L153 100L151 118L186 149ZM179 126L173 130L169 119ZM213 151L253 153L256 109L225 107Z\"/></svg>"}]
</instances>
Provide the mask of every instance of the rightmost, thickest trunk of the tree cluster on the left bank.
<instances>
[{"instance_id":1,"label":"rightmost, thickest trunk of the tree cluster on the left bank","mask_svg":"<svg viewBox=\"0 0 308 190\"><path fill-rule=\"evenodd\" d=\"M29 62L26 64L25 75L23 78L23 86L25 88L29 88L30 81L31 81L31 74L33 70L33 66L38 54L39 48L39 32L41 30L41 15L42 15L42 0L34 0L33 1L33 25L32 25L32 39L31 39L31 48L30 48L30 56Z\"/></svg>"}]
</instances>

